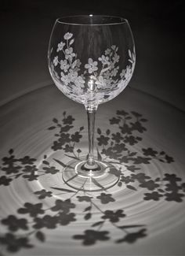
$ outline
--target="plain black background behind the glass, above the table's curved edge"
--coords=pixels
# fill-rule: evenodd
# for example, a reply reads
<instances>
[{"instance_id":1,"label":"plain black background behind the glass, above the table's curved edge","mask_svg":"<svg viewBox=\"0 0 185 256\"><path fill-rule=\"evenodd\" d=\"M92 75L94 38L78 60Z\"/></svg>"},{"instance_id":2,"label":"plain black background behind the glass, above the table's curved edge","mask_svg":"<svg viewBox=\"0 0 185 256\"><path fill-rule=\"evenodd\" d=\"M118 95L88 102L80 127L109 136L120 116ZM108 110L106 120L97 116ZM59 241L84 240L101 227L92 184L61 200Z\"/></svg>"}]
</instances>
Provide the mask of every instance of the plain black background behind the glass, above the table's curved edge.
<instances>
[{"instance_id":1,"label":"plain black background behind the glass, above the table's curved edge","mask_svg":"<svg viewBox=\"0 0 185 256\"><path fill-rule=\"evenodd\" d=\"M129 20L136 43L129 86L185 110L183 0L1 1L0 104L52 83L47 47L54 21L90 13Z\"/></svg>"}]
</instances>

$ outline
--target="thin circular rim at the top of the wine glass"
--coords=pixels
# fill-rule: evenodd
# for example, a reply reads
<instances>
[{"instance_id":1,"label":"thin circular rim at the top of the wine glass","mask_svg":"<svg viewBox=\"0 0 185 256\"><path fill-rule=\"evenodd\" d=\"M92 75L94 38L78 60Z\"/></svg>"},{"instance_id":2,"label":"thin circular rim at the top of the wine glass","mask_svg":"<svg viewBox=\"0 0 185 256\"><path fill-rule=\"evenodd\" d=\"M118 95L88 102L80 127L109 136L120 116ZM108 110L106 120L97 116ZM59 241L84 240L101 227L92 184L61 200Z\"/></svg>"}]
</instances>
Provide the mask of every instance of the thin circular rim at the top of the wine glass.
<instances>
[{"instance_id":1,"label":"thin circular rim at the top of the wine glass","mask_svg":"<svg viewBox=\"0 0 185 256\"><path fill-rule=\"evenodd\" d=\"M99 17L99 18L114 18L114 19L118 19L119 21L117 22L107 22L107 23L96 23L96 24L85 24L85 23L82 23L82 22L66 22L66 21L62 21L63 19L66 19L66 18L80 18L80 17L85 17L85 18L89 18L89 21L90 21L90 18L91 17ZM118 24L129 24L128 20L123 18L123 17L120 17L120 16L114 16L114 15L94 15L94 14L89 14L89 15L70 15L70 16L63 16L63 17L59 17L56 19L56 22L57 23L60 23L60 24L68 24L68 25L76 25L76 26L108 26L108 25L118 25Z\"/></svg>"}]
</instances>

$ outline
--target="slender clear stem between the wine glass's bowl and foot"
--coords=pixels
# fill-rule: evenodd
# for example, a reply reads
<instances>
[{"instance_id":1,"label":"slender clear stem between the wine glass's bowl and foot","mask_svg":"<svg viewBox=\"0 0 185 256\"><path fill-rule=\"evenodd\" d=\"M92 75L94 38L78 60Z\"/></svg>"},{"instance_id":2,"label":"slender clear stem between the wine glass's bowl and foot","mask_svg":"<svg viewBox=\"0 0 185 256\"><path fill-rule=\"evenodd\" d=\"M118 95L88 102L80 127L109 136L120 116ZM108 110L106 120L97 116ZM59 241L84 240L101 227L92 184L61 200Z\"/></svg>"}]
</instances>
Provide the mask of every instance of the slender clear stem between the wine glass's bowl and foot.
<instances>
[{"instance_id":1,"label":"slender clear stem between the wine glass's bowl and foot","mask_svg":"<svg viewBox=\"0 0 185 256\"><path fill-rule=\"evenodd\" d=\"M89 132L89 155L87 159L87 164L89 166L96 165L94 161L94 128L95 128L95 115L96 109L87 109L88 117L88 132Z\"/></svg>"}]
</instances>

